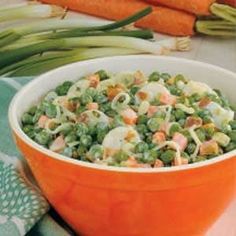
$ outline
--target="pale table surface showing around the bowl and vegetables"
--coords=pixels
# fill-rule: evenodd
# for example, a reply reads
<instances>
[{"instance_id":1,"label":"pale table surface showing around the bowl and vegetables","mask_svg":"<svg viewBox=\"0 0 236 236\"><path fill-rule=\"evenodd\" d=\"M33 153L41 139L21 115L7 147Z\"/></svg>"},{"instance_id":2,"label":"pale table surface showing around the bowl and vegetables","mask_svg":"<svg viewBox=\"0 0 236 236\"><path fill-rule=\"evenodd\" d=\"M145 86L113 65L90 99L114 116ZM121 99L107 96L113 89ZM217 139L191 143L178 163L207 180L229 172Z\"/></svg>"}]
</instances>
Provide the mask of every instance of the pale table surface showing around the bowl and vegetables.
<instances>
[{"instance_id":1,"label":"pale table surface showing around the bowl and vegetables","mask_svg":"<svg viewBox=\"0 0 236 236\"><path fill-rule=\"evenodd\" d=\"M24 0L0 0L0 6L7 4L11 5L23 1ZM99 18L74 12L68 12L68 14L66 15L66 18L74 17L99 20ZM3 24L0 24L0 29L1 28L4 28ZM155 37L157 39L162 39L168 36L156 34ZM217 39L205 36L195 36L192 38L191 51L176 52L172 53L171 55L211 63L236 72L235 38ZM207 205L203 207L207 207ZM211 227L206 236L236 236L236 201L233 202L224 212L224 214L217 220L217 222L215 222L215 224Z\"/></svg>"}]
</instances>

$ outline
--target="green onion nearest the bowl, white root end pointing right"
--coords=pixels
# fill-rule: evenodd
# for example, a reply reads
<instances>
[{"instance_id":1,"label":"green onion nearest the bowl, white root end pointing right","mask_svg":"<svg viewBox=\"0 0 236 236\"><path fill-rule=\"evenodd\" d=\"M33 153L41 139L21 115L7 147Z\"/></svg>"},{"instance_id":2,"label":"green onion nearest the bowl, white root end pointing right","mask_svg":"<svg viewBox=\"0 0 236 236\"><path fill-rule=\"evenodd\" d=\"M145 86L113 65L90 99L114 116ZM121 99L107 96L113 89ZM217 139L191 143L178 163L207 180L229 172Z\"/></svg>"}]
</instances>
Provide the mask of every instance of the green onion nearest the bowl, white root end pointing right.
<instances>
[{"instance_id":1,"label":"green onion nearest the bowl, white root end pointing right","mask_svg":"<svg viewBox=\"0 0 236 236\"><path fill-rule=\"evenodd\" d=\"M0 69L20 60L43 52L70 50L81 47L118 47L151 53L156 55L166 54L169 50L188 50L189 38L170 38L164 42L148 41L140 38L126 36L87 36L46 40L22 48L1 52ZM181 45L181 46L180 46Z\"/></svg>"}]
</instances>

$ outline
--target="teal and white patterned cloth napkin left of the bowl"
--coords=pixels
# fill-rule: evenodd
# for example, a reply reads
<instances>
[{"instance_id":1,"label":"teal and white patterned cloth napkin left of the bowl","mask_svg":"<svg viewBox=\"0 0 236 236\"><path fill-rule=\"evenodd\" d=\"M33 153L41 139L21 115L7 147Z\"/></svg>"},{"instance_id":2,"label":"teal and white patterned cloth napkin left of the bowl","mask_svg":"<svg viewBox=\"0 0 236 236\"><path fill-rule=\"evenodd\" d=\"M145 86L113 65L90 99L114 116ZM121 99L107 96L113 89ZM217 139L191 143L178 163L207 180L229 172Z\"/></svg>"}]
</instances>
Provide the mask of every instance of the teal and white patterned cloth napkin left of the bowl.
<instances>
[{"instance_id":1,"label":"teal and white patterned cloth napkin left of the bowl","mask_svg":"<svg viewBox=\"0 0 236 236\"><path fill-rule=\"evenodd\" d=\"M11 136L7 115L10 101L32 79L0 78L0 235L72 235L47 214L49 204Z\"/></svg>"}]
</instances>

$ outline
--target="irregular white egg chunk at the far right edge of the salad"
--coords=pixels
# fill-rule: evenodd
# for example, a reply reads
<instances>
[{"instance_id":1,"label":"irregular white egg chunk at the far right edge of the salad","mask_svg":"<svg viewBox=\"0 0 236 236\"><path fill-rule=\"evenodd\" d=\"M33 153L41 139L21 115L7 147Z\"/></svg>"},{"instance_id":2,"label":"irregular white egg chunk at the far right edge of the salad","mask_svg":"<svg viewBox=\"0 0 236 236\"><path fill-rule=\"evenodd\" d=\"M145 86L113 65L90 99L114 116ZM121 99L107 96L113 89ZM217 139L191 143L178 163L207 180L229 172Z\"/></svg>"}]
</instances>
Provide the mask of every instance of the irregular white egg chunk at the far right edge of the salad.
<instances>
[{"instance_id":1,"label":"irregular white egg chunk at the far right edge of the salad","mask_svg":"<svg viewBox=\"0 0 236 236\"><path fill-rule=\"evenodd\" d=\"M226 110L216 102L210 102L205 108L211 112L213 121L219 129L234 119L232 110Z\"/></svg>"}]
</instances>

